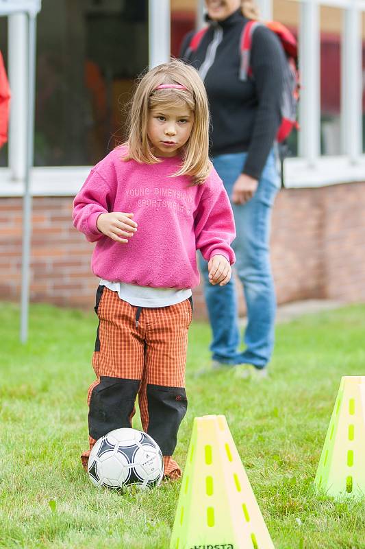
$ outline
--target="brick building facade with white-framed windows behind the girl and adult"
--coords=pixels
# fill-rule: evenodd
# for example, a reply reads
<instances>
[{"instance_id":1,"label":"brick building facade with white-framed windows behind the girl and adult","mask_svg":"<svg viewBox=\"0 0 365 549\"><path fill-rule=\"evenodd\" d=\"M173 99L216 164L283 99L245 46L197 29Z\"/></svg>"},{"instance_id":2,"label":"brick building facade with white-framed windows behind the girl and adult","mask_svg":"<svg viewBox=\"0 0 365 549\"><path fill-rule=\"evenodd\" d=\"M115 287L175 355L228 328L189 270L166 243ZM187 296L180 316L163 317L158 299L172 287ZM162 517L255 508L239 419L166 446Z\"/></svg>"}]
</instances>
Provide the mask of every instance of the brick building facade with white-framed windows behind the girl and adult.
<instances>
[{"instance_id":1,"label":"brick building facade with white-framed windows behind the girl and adult","mask_svg":"<svg viewBox=\"0 0 365 549\"><path fill-rule=\"evenodd\" d=\"M278 301L365 301L365 1L258 3L264 19L294 32L301 52L301 130L292 136L287 188L273 212ZM32 301L92 306L92 245L71 225L73 197L90 167L123 141L137 75L178 56L184 34L202 24L201 0L43 0L37 22ZM24 16L0 19L0 49L12 87L9 142L0 150L0 299L13 301L21 285L25 33ZM203 316L201 288L195 301Z\"/></svg>"}]
</instances>

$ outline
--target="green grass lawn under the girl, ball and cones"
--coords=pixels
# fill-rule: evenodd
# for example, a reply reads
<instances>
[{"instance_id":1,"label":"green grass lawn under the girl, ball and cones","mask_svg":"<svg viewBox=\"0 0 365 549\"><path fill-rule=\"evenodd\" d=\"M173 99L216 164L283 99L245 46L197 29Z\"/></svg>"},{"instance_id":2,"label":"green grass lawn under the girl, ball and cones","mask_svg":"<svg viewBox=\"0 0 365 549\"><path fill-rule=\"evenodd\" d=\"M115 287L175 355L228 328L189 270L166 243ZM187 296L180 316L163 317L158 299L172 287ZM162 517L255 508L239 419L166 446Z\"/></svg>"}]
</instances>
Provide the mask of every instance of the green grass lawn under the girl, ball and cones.
<instances>
[{"instance_id":1,"label":"green grass lawn under the girl, ball and cones","mask_svg":"<svg viewBox=\"0 0 365 549\"><path fill-rule=\"evenodd\" d=\"M280 325L273 377L261 384L196 379L210 330L190 330L175 456L184 464L195 416L225 414L277 549L365 548L365 502L318 497L312 485L340 377L365 374L364 319L354 306ZM34 305L22 346L18 307L1 305L0 547L168 548L179 482L118 495L81 469L96 325L94 314Z\"/></svg>"}]
</instances>

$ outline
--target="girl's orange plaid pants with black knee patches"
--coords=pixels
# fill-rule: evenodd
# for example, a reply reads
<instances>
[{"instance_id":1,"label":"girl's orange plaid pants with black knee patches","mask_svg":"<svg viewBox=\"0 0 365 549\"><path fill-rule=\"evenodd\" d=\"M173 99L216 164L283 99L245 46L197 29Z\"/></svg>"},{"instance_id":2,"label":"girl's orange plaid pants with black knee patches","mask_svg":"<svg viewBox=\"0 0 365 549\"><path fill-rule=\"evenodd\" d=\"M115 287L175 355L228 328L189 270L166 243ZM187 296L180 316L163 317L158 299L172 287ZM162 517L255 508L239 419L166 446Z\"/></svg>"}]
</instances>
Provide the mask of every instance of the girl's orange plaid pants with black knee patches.
<instances>
[{"instance_id":1,"label":"girl's orange plaid pants with black knee patches","mask_svg":"<svg viewBox=\"0 0 365 549\"><path fill-rule=\"evenodd\" d=\"M171 456L187 408L190 300L135 307L99 286L95 312L99 326L92 357L97 380L88 390L90 448L111 430L131 427L138 394L142 428L161 448L165 475L176 478L181 471Z\"/></svg>"}]
</instances>

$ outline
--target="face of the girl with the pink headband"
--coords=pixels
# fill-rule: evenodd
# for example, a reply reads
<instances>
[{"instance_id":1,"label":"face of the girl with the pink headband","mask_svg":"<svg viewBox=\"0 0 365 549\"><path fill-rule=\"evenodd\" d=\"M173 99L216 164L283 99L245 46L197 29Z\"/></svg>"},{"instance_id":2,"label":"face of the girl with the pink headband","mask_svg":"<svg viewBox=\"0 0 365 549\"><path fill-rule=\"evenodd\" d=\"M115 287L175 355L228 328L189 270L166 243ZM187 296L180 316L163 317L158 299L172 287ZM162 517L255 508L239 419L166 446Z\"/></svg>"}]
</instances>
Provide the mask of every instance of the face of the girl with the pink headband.
<instances>
[{"instance_id":1,"label":"face of the girl with the pink headband","mask_svg":"<svg viewBox=\"0 0 365 549\"><path fill-rule=\"evenodd\" d=\"M175 156L190 137L194 115L188 106L156 106L149 111L147 136L155 156Z\"/></svg>"}]
</instances>

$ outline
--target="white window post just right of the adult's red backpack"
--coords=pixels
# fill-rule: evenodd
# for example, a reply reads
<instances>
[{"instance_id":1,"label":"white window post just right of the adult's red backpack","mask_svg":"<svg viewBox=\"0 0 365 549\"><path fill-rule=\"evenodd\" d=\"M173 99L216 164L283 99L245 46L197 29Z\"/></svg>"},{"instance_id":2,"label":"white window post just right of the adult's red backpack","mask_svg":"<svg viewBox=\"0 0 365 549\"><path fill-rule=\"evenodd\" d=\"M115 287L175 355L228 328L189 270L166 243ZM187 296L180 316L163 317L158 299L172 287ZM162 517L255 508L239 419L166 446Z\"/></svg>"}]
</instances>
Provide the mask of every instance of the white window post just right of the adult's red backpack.
<instances>
[{"instance_id":1,"label":"white window post just right of the adult's red backpack","mask_svg":"<svg viewBox=\"0 0 365 549\"><path fill-rule=\"evenodd\" d=\"M300 5L299 65L299 155L313 167L320 154L320 30L316 0Z\"/></svg>"}]
</instances>

